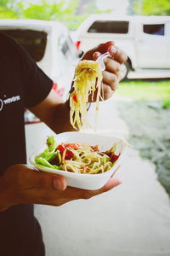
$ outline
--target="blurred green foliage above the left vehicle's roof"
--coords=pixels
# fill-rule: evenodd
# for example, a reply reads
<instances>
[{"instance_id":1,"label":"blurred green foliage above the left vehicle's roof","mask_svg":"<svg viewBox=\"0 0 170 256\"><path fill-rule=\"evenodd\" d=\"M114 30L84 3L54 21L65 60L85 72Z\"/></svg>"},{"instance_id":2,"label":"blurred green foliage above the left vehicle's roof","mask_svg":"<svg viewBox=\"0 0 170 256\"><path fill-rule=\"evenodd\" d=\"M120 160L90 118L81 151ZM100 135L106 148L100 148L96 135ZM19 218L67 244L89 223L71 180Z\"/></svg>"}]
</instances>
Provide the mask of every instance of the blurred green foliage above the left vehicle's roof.
<instances>
[{"instance_id":1,"label":"blurred green foliage above the left vehicle's roof","mask_svg":"<svg viewBox=\"0 0 170 256\"><path fill-rule=\"evenodd\" d=\"M29 3L25 0L1 0L0 18L58 20L71 30L75 30L82 20L88 17L89 9L91 13L101 13L94 3L87 2L80 6L81 3L81 0L60 0L58 2L40 0L38 3ZM77 13L78 9L84 10L81 15Z\"/></svg>"}]
</instances>

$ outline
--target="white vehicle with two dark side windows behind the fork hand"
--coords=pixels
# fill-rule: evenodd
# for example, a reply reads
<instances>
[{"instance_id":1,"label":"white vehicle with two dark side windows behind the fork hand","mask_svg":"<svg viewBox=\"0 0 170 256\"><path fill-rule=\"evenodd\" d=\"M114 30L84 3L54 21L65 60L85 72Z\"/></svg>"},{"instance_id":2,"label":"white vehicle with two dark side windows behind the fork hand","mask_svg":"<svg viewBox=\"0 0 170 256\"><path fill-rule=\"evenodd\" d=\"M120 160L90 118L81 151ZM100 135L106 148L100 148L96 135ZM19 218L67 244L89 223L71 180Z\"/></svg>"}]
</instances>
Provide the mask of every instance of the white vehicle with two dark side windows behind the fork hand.
<instances>
[{"instance_id":1,"label":"white vehicle with two dark side windows behind the fork hand","mask_svg":"<svg viewBox=\"0 0 170 256\"><path fill-rule=\"evenodd\" d=\"M131 70L162 70L170 77L169 16L91 15L79 26L76 36L84 51L115 41L128 55L122 69L124 79Z\"/></svg>"}]
</instances>

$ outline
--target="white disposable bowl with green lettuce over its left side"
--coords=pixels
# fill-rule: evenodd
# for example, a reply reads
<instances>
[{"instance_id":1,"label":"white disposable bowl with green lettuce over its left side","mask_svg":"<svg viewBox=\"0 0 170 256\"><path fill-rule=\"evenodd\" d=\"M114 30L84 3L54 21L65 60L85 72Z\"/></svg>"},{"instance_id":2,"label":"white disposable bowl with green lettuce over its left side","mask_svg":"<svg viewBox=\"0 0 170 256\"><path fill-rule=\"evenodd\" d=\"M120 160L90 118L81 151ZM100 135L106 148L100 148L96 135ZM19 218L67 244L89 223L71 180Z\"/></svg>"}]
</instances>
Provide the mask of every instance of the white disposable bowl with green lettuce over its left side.
<instances>
[{"instance_id":1,"label":"white disposable bowl with green lettuce over its left side","mask_svg":"<svg viewBox=\"0 0 170 256\"><path fill-rule=\"evenodd\" d=\"M98 145L99 152L107 152L108 148L113 149L114 154L118 156L117 160L113 162L110 170L97 173L81 173L71 172L59 169L59 165L49 160L52 156L55 158L55 151L60 144L88 144L88 146L96 147ZM48 145L47 145L48 144ZM42 172L49 172L65 177L68 186L79 189L99 189L108 182L109 178L116 173L116 167L122 163L125 155L127 143L119 137L105 136L98 133L84 133L81 131L62 132L54 137L48 138L48 141L42 145L36 152L31 154L31 165L35 166L37 170ZM44 157L45 155L45 157ZM38 157L42 157L40 161L36 162ZM52 158L53 158L52 157ZM89 171L89 170L88 170Z\"/></svg>"}]
</instances>

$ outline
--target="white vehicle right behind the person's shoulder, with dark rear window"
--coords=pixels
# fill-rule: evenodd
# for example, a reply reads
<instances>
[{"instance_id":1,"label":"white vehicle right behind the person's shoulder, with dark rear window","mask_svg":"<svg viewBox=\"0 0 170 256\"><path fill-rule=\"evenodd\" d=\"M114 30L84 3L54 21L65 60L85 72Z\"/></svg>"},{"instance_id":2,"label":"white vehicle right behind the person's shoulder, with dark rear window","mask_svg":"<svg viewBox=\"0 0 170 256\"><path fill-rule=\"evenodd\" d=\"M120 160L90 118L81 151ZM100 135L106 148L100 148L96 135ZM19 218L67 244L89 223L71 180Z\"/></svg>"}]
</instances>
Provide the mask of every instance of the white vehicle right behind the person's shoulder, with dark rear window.
<instances>
[{"instance_id":1,"label":"white vehicle right behind the person's shoulder, with dark rear window","mask_svg":"<svg viewBox=\"0 0 170 256\"><path fill-rule=\"evenodd\" d=\"M78 52L70 32L51 20L0 20L0 32L15 38L54 81L59 96L66 97L71 87Z\"/></svg>"}]
</instances>

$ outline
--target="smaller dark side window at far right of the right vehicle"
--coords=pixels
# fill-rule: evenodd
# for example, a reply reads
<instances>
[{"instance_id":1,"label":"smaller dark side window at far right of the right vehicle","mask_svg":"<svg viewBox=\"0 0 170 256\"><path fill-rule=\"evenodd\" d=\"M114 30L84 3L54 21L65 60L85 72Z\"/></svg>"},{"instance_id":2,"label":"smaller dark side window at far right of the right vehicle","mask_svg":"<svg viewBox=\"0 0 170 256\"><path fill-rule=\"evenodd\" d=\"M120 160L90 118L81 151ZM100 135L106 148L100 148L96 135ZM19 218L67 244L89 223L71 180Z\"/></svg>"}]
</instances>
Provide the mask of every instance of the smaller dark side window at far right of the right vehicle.
<instances>
[{"instance_id":1,"label":"smaller dark side window at far right of the right vehicle","mask_svg":"<svg viewBox=\"0 0 170 256\"><path fill-rule=\"evenodd\" d=\"M143 31L146 34L164 36L164 24L144 24Z\"/></svg>"}]
</instances>

